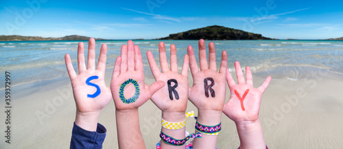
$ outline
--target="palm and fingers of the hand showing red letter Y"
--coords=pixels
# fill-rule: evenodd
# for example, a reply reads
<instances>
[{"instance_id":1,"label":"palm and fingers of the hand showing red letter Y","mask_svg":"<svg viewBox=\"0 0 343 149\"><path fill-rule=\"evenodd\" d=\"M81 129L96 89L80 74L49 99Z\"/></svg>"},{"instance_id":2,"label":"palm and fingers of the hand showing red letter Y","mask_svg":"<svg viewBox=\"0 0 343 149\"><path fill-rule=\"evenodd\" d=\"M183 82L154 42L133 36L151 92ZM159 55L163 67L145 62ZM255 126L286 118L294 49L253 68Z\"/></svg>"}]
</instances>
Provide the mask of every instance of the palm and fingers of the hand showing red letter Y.
<instances>
[{"instance_id":1,"label":"palm and fingers of the hand showing red letter Y","mask_svg":"<svg viewBox=\"0 0 343 149\"><path fill-rule=\"evenodd\" d=\"M231 77L230 72L226 72L226 81L230 88L230 100L224 105L223 112L228 118L234 122L255 122L259 120L259 107L261 104L261 97L265 89L267 89L272 77L267 77L264 83L254 88L252 86L252 75L250 67L246 67L246 81L241 72L239 62L235 62L235 69L237 75L237 84Z\"/></svg>"}]
</instances>

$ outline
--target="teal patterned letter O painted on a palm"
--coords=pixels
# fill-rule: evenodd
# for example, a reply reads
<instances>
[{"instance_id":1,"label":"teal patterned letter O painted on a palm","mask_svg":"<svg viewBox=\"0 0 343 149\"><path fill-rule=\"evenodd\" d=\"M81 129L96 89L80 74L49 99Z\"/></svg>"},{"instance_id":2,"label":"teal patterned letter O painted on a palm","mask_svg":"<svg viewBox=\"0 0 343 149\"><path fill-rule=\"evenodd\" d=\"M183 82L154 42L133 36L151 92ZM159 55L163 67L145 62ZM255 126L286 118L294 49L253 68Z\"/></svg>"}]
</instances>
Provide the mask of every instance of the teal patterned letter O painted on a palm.
<instances>
[{"instance_id":1,"label":"teal patterned letter O painted on a palm","mask_svg":"<svg viewBox=\"0 0 343 149\"><path fill-rule=\"evenodd\" d=\"M125 96L124 96L124 88L129 83L132 83L134 85L134 87L136 88L136 91L134 92L134 96L132 96L131 98L126 99ZM139 84L134 79L128 79L128 80L126 80L124 83L122 83L120 85L119 98L121 99L121 101L123 103L128 103L128 104L129 103L134 103L138 99L138 97L139 97Z\"/></svg>"}]
</instances>

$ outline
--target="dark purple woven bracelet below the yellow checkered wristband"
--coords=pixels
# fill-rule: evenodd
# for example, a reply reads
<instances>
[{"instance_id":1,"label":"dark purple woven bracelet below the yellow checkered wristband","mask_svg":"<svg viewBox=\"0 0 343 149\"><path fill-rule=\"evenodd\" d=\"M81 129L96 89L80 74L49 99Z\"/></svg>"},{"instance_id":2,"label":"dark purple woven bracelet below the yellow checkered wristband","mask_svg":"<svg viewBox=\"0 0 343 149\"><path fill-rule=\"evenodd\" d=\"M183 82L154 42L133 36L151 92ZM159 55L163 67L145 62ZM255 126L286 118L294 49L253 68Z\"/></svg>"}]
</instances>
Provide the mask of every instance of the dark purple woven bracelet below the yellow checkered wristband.
<instances>
[{"instance_id":1,"label":"dark purple woven bracelet below the yellow checkered wristband","mask_svg":"<svg viewBox=\"0 0 343 149\"><path fill-rule=\"evenodd\" d=\"M187 136L185 139L174 139L173 137L170 137L169 135L165 135L165 133L160 133L160 137L162 141L164 141L166 144L170 144L172 146L182 146L186 143L190 138L201 138L201 133L191 133L189 136Z\"/></svg>"}]
</instances>

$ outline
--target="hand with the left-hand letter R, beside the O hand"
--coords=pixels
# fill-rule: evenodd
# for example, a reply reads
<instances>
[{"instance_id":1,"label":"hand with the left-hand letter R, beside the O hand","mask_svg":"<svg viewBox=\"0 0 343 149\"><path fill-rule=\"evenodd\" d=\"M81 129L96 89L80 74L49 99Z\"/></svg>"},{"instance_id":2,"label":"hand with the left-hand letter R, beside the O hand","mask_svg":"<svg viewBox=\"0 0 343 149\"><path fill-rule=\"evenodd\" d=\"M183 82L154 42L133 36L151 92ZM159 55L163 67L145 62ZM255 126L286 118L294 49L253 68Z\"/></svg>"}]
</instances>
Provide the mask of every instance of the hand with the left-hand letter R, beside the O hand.
<instances>
[{"instance_id":1,"label":"hand with the left-hand letter R, beside the O hand","mask_svg":"<svg viewBox=\"0 0 343 149\"><path fill-rule=\"evenodd\" d=\"M155 80L163 81L165 86L161 90L158 90L152 96L151 100L159 109L161 109L161 111L163 111L163 114L175 113L178 115L179 113L181 119L185 120L185 111L187 109L188 100L188 55L185 55L182 71L181 74L179 74L176 46L174 44L171 44L170 46L170 68L168 66L165 44L163 42L158 44L158 51L160 53L162 72L158 69L151 51L147 51L147 59L149 60L149 65ZM182 120L176 120L176 122L180 122Z\"/></svg>"}]
</instances>

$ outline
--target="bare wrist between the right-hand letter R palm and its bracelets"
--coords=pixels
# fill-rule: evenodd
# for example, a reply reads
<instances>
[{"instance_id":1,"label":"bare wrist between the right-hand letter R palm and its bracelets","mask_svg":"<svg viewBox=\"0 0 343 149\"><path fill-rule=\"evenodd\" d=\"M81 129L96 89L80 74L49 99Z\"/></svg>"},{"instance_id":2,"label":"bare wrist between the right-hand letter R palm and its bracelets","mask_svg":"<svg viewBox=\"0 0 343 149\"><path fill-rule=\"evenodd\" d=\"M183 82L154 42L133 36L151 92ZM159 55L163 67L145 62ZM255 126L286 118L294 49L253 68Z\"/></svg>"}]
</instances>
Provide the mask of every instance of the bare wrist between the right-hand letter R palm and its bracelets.
<instances>
[{"instance_id":1,"label":"bare wrist between the right-hand letter R palm and its bracelets","mask_svg":"<svg viewBox=\"0 0 343 149\"><path fill-rule=\"evenodd\" d=\"M199 122L200 124L214 126L220 124L221 120L222 111L198 109L197 122Z\"/></svg>"}]
</instances>

